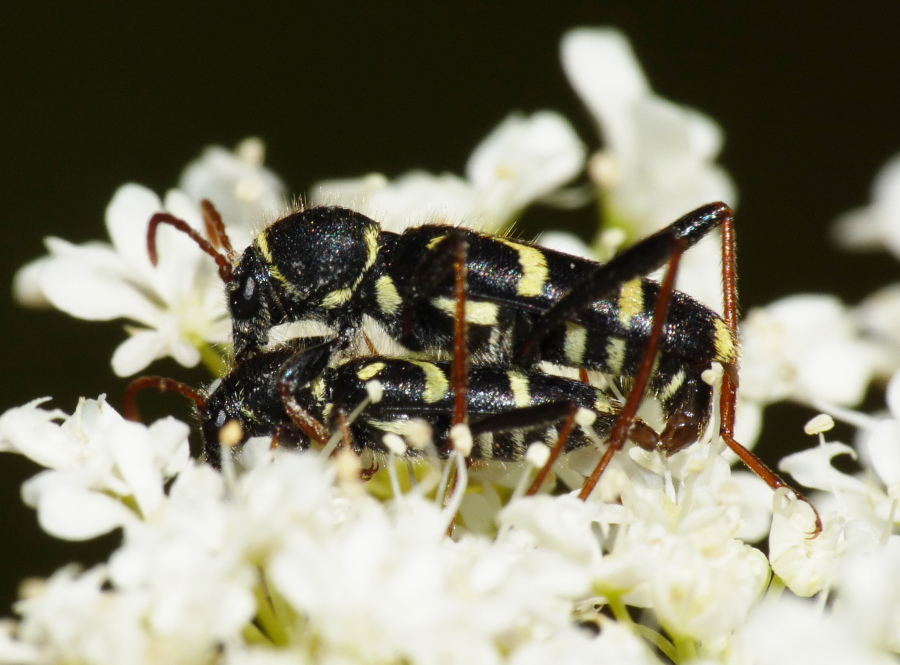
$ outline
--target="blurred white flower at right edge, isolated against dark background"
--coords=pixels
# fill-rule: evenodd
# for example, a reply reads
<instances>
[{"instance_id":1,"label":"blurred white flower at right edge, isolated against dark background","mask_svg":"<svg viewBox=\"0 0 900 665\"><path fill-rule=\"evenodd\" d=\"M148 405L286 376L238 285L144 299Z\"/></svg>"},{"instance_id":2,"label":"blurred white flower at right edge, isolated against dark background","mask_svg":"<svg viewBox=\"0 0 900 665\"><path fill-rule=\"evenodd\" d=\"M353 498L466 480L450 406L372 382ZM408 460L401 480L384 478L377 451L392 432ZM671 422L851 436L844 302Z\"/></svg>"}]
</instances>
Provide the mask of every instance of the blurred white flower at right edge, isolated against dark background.
<instances>
[{"instance_id":1,"label":"blurred white flower at right edge, isolated against dark background","mask_svg":"<svg viewBox=\"0 0 900 665\"><path fill-rule=\"evenodd\" d=\"M849 249L885 247L900 258L900 156L879 172L872 186L872 203L844 214L834 235Z\"/></svg>"}]
</instances>

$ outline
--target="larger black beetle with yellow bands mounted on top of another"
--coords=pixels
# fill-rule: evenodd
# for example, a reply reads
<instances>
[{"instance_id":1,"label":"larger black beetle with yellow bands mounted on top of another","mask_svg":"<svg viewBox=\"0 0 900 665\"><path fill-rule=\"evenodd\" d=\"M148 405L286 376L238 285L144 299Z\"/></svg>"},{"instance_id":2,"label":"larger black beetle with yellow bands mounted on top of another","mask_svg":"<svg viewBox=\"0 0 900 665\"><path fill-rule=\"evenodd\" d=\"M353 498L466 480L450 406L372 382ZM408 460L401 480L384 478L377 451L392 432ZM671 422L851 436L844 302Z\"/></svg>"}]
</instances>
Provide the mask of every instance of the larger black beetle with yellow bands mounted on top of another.
<instances>
[{"instance_id":1,"label":"larger black beetle with yellow bands mounted on top of another","mask_svg":"<svg viewBox=\"0 0 900 665\"><path fill-rule=\"evenodd\" d=\"M206 213L208 228L217 229L210 234L213 243L159 213L151 219L148 245L155 257L156 228L170 224L215 258L226 283L239 364L261 352L278 324L320 321L348 345L365 315L405 347L451 353L454 361L465 356L460 363L472 357L530 369L549 361L625 377L633 388L594 474L598 478L612 452L627 438L643 436L640 428L637 434L631 430L645 393L663 408L661 452L669 455L696 441L713 406L703 374L717 362L725 369L720 434L770 487L786 486L733 437L737 290L732 213L724 204L688 213L605 264L457 227L423 225L392 233L336 207L282 218L239 257L223 242L224 226L209 204ZM675 291L674 269L662 285L643 277L666 262L677 266L680 254L714 228L723 231L724 317ZM462 347L460 319L466 330ZM462 392L467 374L456 372L456 392ZM465 400L458 399L460 404ZM595 483L596 478L588 481L584 496Z\"/></svg>"}]
</instances>

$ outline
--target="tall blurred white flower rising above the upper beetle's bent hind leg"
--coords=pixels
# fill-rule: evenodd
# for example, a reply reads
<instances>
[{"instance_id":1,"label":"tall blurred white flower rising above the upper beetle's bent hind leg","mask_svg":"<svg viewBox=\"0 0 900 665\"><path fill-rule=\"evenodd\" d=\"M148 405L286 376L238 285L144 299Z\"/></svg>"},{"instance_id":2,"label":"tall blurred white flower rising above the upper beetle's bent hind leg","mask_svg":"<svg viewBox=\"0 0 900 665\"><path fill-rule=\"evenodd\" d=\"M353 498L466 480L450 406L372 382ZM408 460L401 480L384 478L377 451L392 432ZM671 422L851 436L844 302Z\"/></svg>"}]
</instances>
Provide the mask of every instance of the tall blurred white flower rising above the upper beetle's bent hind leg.
<instances>
[{"instance_id":1,"label":"tall blurred white flower rising above the upper beetle's bent hind leg","mask_svg":"<svg viewBox=\"0 0 900 665\"><path fill-rule=\"evenodd\" d=\"M734 205L734 185L714 163L719 126L655 95L621 33L573 30L562 62L606 144L591 172L614 221L643 236L704 203Z\"/></svg>"}]
</instances>

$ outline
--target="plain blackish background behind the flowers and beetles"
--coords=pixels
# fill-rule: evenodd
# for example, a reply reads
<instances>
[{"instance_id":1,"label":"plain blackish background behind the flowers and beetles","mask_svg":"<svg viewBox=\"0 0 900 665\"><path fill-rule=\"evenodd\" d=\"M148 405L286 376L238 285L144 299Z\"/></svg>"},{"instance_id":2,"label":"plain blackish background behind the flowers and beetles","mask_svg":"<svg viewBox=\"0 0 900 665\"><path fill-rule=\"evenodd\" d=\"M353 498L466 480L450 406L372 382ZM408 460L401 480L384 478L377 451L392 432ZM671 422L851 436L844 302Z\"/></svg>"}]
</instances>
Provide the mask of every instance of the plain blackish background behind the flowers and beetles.
<instances>
[{"instance_id":1,"label":"plain blackish background behind the flowers and beetles","mask_svg":"<svg viewBox=\"0 0 900 665\"><path fill-rule=\"evenodd\" d=\"M827 230L869 201L876 172L900 152L900 5L480 4L4 9L0 411L44 395L68 412L81 395L121 404L126 381L109 368L121 324L25 310L9 290L15 270L44 253L44 236L106 239L104 209L120 184L163 193L203 147L247 136L265 140L268 165L295 194L370 171L461 173L513 110L560 111L595 148L558 59L562 34L581 25L622 29L657 92L723 127L745 309L802 291L855 302L897 280L886 253L839 252ZM540 227L538 210L524 230ZM166 363L153 371L203 380ZM807 444L800 426L812 414L772 411L763 440L777 459L776 448ZM118 538L41 535L19 497L36 471L0 456L0 616L23 577L89 565Z\"/></svg>"}]
</instances>

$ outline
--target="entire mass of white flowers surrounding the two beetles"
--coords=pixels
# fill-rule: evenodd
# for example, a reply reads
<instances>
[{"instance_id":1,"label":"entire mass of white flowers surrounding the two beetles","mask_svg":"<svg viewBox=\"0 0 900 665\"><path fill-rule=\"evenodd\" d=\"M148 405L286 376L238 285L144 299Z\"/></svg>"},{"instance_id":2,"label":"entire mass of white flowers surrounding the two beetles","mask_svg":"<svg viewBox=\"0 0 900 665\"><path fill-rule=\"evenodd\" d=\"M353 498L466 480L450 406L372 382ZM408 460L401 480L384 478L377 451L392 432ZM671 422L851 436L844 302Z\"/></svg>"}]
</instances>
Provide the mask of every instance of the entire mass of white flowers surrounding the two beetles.
<instances>
[{"instance_id":1,"label":"entire mass of white flowers surrounding the two beetles","mask_svg":"<svg viewBox=\"0 0 900 665\"><path fill-rule=\"evenodd\" d=\"M393 230L464 220L501 229L535 202L593 198L618 231L593 248L552 241L585 255L699 204L734 201L714 161L721 130L654 95L621 34L575 30L562 57L604 139L593 156L562 116L513 115L475 149L465 177L373 174L321 183L311 201L350 205ZM588 187L561 189L579 174ZM898 174L888 168L873 206L842 221L839 237L897 252ZM17 276L18 297L136 324L113 355L118 374L163 356L219 368L228 319L210 257L166 227L160 265L146 252L151 215L166 210L201 230L205 198L240 249L284 205L284 189L258 141L210 149L164 202L122 187L107 210L112 245L49 238L50 254ZM721 294L708 292L720 281L715 239L689 255L679 283L718 306ZM528 464L459 465L443 501L434 483L401 482L406 465L394 458L363 484L340 455L254 440L240 473L228 454L220 473L190 459L188 428L172 419L127 422L102 399L71 416L40 400L11 409L0 452L46 469L23 487L42 528L73 540L120 529L122 544L89 570L23 585L17 619L0 621L0 663L895 662L898 294L900 284L855 308L797 295L742 323L738 439L752 444L776 401L828 414L807 428L819 445L780 465L815 490L815 538L810 505L733 471L713 427L668 459L626 448L588 501L520 496ZM853 411L878 377L890 377L886 413ZM853 445L825 439L834 420L856 428ZM840 455L861 471L837 469ZM579 485L597 456L569 455L559 479ZM768 556L753 546L766 537Z\"/></svg>"}]
</instances>

